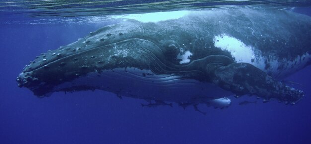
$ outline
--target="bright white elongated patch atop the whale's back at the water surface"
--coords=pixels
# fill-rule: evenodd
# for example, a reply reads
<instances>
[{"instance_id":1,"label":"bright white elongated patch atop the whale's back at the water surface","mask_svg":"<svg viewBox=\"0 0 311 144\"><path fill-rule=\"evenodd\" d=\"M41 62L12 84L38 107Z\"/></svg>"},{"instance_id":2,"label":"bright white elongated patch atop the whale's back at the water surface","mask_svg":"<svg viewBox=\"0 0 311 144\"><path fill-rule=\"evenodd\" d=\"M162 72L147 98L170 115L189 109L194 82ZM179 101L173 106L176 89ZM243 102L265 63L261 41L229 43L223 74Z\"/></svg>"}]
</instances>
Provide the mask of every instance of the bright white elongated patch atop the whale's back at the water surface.
<instances>
[{"instance_id":1,"label":"bright white elongated patch atop the whale's back at the water surface","mask_svg":"<svg viewBox=\"0 0 311 144\"><path fill-rule=\"evenodd\" d=\"M168 11L168 12L153 12L153 13L142 13L142 14L128 14L121 16L114 16L113 18L121 19L134 19L140 22L159 22L171 19L178 19L187 15L189 11Z\"/></svg>"}]
</instances>

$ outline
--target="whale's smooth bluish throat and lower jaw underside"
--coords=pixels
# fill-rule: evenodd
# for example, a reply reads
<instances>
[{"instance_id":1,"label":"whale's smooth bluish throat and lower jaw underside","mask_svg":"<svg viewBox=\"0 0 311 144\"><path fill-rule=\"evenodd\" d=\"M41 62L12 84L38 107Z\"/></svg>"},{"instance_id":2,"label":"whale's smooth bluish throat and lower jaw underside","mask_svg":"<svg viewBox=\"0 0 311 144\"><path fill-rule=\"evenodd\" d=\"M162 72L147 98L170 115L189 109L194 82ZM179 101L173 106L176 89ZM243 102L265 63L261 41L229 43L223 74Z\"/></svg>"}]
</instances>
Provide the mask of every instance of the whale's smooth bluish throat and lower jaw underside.
<instances>
[{"instance_id":1,"label":"whale's smooth bluish throat and lower jaw underside","mask_svg":"<svg viewBox=\"0 0 311 144\"><path fill-rule=\"evenodd\" d=\"M115 68L101 72L91 72L73 81L54 87L53 91L105 90L118 96L133 97L145 100L171 102L207 103L209 100L232 95L211 83L194 79L182 79L181 76L157 75L151 70L138 68ZM213 91L213 93L210 93ZM226 106L230 100L212 101L211 103Z\"/></svg>"}]
</instances>

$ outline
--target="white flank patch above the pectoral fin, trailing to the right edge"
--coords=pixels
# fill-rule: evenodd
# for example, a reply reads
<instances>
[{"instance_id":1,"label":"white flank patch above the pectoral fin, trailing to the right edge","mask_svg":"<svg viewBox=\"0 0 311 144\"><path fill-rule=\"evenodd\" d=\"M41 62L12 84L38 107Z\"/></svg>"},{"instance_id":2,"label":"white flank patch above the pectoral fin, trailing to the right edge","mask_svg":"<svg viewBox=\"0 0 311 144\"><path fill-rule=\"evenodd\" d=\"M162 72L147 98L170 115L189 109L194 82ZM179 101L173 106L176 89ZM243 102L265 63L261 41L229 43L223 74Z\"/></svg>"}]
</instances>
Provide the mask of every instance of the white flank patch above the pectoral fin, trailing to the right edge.
<instances>
[{"instance_id":1,"label":"white flank patch above the pectoral fin, trailing to the right edge","mask_svg":"<svg viewBox=\"0 0 311 144\"><path fill-rule=\"evenodd\" d=\"M231 56L235 58L237 63L249 63L259 68L260 70L270 73L274 78L284 78L285 76L292 74L299 69L303 68L311 59L309 53L305 53L301 56L297 56L294 60L278 59L276 56L270 55L263 57L261 51L254 51L255 48L247 46L241 40L230 37L226 34L222 34L214 37L215 47L221 50L227 50ZM266 68L265 61L269 58L269 67ZM252 61L253 59L253 61ZM282 69L278 69L282 66Z\"/></svg>"}]
</instances>

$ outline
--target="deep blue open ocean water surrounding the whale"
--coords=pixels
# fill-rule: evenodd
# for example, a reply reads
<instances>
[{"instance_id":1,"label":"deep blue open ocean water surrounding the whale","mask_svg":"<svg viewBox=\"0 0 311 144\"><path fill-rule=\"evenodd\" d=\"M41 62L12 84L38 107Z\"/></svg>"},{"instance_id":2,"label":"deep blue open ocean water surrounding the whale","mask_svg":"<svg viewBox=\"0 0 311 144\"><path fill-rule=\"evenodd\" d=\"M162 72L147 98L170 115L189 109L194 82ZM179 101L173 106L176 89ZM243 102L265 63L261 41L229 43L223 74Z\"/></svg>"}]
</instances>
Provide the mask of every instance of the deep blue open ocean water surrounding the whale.
<instances>
[{"instance_id":1,"label":"deep blue open ocean water surrounding the whale","mask_svg":"<svg viewBox=\"0 0 311 144\"><path fill-rule=\"evenodd\" d=\"M295 11L311 16L308 7ZM261 100L240 106L255 98L232 97L227 109L200 106L202 115L176 104L142 108L144 100L100 90L37 98L17 87L24 65L111 21L9 12L0 13L0 144L311 144L310 66L286 79L306 93L293 106Z\"/></svg>"}]
</instances>

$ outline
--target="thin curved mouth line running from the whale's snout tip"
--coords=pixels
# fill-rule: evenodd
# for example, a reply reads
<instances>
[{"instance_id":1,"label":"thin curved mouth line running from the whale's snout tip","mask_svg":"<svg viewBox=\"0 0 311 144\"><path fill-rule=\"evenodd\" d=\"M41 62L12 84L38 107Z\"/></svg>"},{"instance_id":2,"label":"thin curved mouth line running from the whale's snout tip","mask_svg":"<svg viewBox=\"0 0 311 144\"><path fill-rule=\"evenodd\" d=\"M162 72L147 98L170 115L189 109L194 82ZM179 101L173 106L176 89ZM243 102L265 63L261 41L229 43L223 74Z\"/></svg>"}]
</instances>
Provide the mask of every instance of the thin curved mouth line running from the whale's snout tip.
<instances>
[{"instance_id":1,"label":"thin curved mouth line running from the whale's snout tip","mask_svg":"<svg viewBox=\"0 0 311 144\"><path fill-rule=\"evenodd\" d=\"M43 68L43 67L45 67L45 66L47 66L47 65L49 65L49 64L51 64L51 63L53 63L53 62L61 61L61 60L65 59L65 58L71 57L71 56L73 56L73 55L82 54L82 53L85 53L85 52L88 52L88 51L91 51L91 50L94 50L94 49L106 47L106 46L109 46L109 45L112 45L112 44L117 44L117 43L121 43L121 42L130 41L130 40L143 40L143 41L148 41L148 42L151 42L151 43L155 44L155 43L152 42L152 41L149 41L149 40L146 40L146 39L142 39L142 38L123 39L123 40L116 41L116 42L112 42L112 43L109 43L109 44L106 44L106 45L103 45L103 46L93 47L93 48L89 48L89 49L86 49L86 50L81 51L81 52L76 52L76 53L72 53L72 54L66 55L66 56L61 57L61 58L59 58L59 59L55 59L55 60L49 61L49 62L45 63L44 65L37 66L37 67L32 68L32 69L24 70L22 73L27 73L27 72L31 72L31 71L34 71L34 70ZM156 45L156 44L155 44L155 45ZM158 45L156 45L156 46L158 46Z\"/></svg>"}]
</instances>

